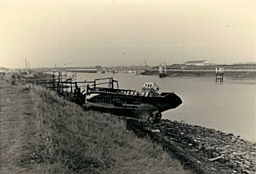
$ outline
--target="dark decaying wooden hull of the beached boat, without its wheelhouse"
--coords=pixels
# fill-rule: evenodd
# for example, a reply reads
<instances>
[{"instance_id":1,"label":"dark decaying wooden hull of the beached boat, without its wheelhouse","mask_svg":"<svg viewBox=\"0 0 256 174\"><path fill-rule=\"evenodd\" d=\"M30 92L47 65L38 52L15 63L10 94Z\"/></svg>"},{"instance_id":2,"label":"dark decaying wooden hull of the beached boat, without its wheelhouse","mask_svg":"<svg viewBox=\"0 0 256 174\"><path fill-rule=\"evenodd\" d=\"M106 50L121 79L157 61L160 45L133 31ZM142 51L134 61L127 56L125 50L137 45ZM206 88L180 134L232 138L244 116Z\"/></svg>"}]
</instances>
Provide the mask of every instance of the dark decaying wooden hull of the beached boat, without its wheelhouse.
<instances>
[{"instance_id":1,"label":"dark decaying wooden hull of the beached boat, without its wheelhouse","mask_svg":"<svg viewBox=\"0 0 256 174\"><path fill-rule=\"evenodd\" d=\"M107 94L92 92L86 97L87 109L147 120L151 113L176 108L182 103L174 93L162 93L155 97L141 95Z\"/></svg>"}]
</instances>

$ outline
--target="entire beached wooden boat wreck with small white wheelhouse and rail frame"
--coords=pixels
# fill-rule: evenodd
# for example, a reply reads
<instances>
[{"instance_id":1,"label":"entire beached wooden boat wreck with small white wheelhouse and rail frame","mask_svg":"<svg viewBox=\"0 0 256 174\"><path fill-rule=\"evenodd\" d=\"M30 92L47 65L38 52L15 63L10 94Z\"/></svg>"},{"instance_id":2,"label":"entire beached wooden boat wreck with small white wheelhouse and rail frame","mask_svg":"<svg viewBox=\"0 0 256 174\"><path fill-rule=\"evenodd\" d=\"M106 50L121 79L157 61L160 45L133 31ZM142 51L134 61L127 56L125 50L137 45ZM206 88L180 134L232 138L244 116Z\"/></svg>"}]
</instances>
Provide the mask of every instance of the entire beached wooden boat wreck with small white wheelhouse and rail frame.
<instances>
[{"instance_id":1,"label":"entire beached wooden boat wreck with small white wheelhouse and rail frame","mask_svg":"<svg viewBox=\"0 0 256 174\"><path fill-rule=\"evenodd\" d=\"M181 105L182 101L173 92L162 92L158 94L160 88L154 83L144 83L142 91L123 90L118 88L118 82L109 79L109 87L94 87L87 85L85 107L87 109L112 113L117 116L126 116L148 120L157 123L162 117L162 112L174 109ZM114 82L117 88L113 87ZM102 84L102 83L99 83Z\"/></svg>"}]
</instances>

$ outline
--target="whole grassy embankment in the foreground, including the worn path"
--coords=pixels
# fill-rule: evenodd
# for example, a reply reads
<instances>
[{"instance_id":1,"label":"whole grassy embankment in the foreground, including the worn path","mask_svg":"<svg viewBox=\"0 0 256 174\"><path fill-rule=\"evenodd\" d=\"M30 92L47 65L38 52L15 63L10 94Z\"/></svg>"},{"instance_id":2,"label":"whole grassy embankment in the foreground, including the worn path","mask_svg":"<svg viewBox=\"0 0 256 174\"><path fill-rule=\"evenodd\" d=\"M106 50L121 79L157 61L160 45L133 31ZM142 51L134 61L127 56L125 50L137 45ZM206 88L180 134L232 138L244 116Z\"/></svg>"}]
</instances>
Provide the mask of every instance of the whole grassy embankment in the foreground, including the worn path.
<instances>
[{"instance_id":1,"label":"whole grassy embankment in the foreground, including the worn path","mask_svg":"<svg viewBox=\"0 0 256 174\"><path fill-rule=\"evenodd\" d=\"M19 119L19 124L9 130L12 128L5 122L3 131L1 118L1 140L6 140L5 146L1 145L2 173L189 173L161 146L139 139L127 131L125 122L109 114L84 111L42 87L31 86L30 90L7 85L1 81L1 95L4 90L16 94L9 99L13 105L1 110L1 117L4 115L8 124ZM5 101L1 96L1 107ZM15 105L15 101L25 103ZM20 111L26 112L26 117L12 118ZM16 143L12 150L8 141ZM22 167L26 170L20 170Z\"/></svg>"}]
</instances>

